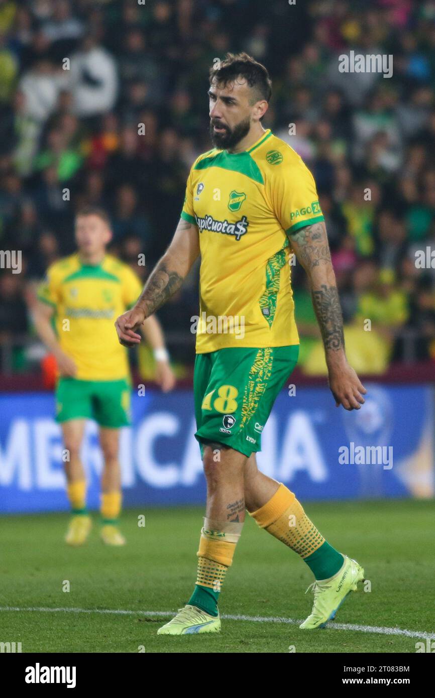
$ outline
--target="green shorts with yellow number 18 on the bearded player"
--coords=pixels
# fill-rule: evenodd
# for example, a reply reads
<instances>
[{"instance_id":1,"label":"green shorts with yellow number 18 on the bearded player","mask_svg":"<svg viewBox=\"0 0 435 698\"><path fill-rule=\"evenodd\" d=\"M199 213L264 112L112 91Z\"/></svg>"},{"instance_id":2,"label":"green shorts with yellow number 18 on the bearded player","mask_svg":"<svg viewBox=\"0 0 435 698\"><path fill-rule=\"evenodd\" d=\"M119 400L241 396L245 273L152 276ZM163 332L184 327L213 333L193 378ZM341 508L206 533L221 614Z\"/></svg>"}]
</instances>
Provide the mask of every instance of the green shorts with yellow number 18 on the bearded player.
<instances>
[{"instance_id":1,"label":"green shorts with yellow number 18 on the bearded player","mask_svg":"<svg viewBox=\"0 0 435 698\"><path fill-rule=\"evenodd\" d=\"M196 439L245 456L261 450L261 432L273 403L297 364L299 345L227 348L198 354L193 373Z\"/></svg>"}]
</instances>

